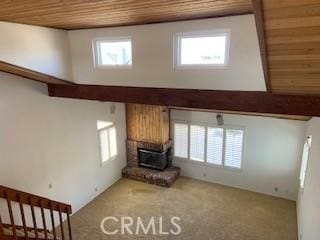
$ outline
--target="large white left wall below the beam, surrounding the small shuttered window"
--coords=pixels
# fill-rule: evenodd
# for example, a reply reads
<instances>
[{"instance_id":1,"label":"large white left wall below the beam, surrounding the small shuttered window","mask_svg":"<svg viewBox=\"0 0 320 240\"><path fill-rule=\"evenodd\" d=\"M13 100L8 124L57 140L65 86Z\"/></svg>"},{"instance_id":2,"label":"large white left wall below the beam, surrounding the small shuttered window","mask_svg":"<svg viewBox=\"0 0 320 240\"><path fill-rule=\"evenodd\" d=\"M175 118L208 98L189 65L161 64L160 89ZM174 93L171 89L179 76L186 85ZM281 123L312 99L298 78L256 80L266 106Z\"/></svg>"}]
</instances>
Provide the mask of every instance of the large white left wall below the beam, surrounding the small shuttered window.
<instances>
[{"instance_id":1,"label":"large white left wall below the beam, surrounding the small shuttered window","mask_svg":"<svg viewBox=\"0 0 320 240\"><path fill-rule=\"evenodd\" d=\"M0 185L70 203L77 211L121 177L124 104L116 103L112 115L110 103L50 98L46 85L1 72L0 86ZM117 128L118 156L102 167L97 120L114 121Z\"/></svg>"}]
</instances>

